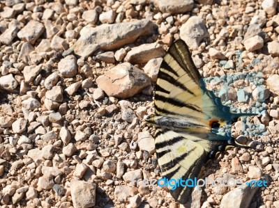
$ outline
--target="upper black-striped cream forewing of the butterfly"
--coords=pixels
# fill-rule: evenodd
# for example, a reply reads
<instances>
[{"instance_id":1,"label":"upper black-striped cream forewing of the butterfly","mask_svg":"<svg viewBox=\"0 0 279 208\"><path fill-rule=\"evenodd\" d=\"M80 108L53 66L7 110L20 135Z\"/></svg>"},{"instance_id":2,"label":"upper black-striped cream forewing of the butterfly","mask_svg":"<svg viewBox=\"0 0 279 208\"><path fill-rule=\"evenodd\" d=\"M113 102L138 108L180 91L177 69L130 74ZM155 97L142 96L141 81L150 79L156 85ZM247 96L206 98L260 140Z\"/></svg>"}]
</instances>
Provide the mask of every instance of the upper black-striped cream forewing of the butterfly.
<instances>
[{"instance_id":1,"label":"upper black-striped cream forewing of the butterfly","mask_svg":"<svg viewBox=\"0 0 279 208\"><path fill-rule=\"evenodd\" d=\"M156 114L174 117L193 115L203 119L200 78L185 42L174 42L158 72L154 97Z\"/></svg>"}]
</instances>

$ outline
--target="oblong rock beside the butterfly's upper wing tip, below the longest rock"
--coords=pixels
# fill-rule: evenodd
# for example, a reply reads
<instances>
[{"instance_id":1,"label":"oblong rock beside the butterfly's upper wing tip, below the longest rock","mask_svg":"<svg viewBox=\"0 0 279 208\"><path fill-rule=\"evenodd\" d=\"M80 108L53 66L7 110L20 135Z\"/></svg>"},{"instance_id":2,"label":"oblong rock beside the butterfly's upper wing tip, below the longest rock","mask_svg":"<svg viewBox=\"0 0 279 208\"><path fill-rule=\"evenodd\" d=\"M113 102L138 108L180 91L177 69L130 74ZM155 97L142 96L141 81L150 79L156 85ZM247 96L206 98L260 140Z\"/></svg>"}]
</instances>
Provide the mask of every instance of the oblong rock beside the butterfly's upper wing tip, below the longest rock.
<instances>
[{"instance_id":1,"label":"oblong rock beside the butterfly's upper wing tip, below the longest rock","mask_svg":"<svg viewBox=\"0 0 279 208\"><path fill-rule=\"evenodd\" d=\"M128 51L124 61L135 63L147 63L152 58L158 58L165 55L165 50L157 42L151 44L143 44L138 47L133 47Z\"/></svg>"}]
</instances>

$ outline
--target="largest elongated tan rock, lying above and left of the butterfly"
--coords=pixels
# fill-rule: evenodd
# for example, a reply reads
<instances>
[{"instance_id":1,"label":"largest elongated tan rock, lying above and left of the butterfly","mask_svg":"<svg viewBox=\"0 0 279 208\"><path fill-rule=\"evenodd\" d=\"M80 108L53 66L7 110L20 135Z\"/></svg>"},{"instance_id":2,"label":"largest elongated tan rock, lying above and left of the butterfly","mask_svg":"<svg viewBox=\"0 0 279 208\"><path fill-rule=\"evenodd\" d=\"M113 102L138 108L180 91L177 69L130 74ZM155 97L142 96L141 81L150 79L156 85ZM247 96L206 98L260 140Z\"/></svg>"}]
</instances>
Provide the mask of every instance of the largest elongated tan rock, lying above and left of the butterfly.
<instances>
[{"instance_id":1,"label":"largest elongated tan rock, lying above and left of the butterfly","mask_svg":"<svg viewBox=\"0 0 279 208\"><path fill-rule=\"evenodd\" d=\"M142 35L151 35L156 25L149 20L101 24L95 28L85 26L80 31L80 38L73 45L75 54L89 56L97 49L113 50L134 42ZM110 37L107 36L110 34Z\"/></svg>"}]
</instances>

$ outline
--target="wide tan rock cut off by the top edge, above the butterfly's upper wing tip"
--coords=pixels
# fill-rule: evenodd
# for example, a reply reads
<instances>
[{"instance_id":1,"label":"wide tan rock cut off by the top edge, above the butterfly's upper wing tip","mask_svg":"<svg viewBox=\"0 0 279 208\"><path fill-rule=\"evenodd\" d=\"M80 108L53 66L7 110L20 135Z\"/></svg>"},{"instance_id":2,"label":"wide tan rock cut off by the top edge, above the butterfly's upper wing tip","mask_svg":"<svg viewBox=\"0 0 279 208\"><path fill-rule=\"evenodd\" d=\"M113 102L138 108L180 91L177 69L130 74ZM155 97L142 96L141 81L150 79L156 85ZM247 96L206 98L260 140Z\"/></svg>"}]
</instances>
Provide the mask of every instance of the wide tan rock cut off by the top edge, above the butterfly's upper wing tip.
<instances>
[{"instance_id":1,"label":"wide tan rock cut off by the top edge, above the butterfly's upper wing tip","mask_svg":"<svg viewBox=\"0 0 279 208\"><path fill-rule=\"evenodd\" d=\"M193 9L194 1L193 0L175 0L175 1L167 1L167 0L154 0L156 6L158 6L159 10L162 13L186 13Z\"/></svg>"}]
</instances>

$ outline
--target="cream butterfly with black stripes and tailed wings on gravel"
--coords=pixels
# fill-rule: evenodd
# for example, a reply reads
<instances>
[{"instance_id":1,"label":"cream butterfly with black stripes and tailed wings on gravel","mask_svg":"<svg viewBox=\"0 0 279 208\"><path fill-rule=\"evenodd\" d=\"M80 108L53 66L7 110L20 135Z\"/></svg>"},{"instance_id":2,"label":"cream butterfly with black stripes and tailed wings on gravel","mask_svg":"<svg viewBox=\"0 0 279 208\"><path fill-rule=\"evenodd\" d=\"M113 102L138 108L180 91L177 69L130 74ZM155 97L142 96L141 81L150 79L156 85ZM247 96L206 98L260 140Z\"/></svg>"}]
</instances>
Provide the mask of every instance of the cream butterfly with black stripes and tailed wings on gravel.
<instances>
[{"instance_id":1,"label":"cream butterfly with black stripes and tailed wings on gravel","mask_svg":"<svg viewBox=\"0 0 279 208\"><path fill-rule=\"evenodd\" d=\"M240 116L224 106L195 67L188 46L176 40L168 49L158 72L154 115L145 120L156 127L155 145L162 176L174 183L194 179L208 159L236 143L230 132L219 131ZM185 204L193 187L167 186L173 198Z\"/></svg>"}]
</instances>

